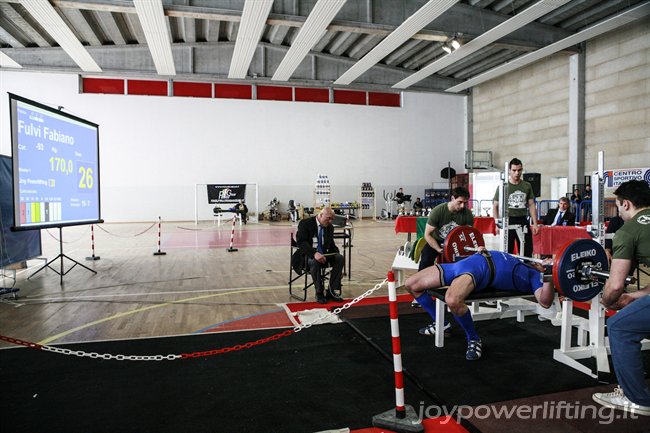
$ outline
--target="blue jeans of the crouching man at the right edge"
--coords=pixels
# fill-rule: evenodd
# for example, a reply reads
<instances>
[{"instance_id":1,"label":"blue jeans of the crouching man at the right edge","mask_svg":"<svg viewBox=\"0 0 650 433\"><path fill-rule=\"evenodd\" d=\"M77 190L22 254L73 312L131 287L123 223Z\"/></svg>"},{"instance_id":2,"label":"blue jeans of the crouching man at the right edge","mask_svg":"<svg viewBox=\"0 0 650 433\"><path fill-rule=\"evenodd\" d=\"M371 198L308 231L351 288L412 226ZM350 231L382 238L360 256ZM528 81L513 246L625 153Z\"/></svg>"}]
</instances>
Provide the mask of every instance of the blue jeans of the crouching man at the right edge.
<instances>
[{"instance_id":1,"label":"blue jeans of the crouching man at the right edge","mask_svg":"<svg viewBox=\"0 0 650 433\"><path fill-rule=\"evenodd\" d=\"M641 340L650 337L650 296L644 296L607 321L614 371L625 396L650 406L650 389L643 376Z\"/></svg>"}]
</instances>

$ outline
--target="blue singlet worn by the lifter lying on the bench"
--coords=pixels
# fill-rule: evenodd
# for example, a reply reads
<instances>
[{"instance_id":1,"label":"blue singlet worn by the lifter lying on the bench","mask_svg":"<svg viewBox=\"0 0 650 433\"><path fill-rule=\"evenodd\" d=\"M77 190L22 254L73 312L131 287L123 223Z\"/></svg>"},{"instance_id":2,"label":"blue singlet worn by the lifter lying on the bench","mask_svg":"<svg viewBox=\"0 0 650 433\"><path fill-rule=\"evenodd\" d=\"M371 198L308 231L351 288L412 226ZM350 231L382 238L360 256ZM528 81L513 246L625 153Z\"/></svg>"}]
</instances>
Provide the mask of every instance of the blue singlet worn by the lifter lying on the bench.
<instances>
[{"instance_id":1,"label":"blue singlet worn by the lifter lying on the bench","mask_svg":"<svg viewBox=\"0 0 650 433\"><path fill-rule=\"evenodd\" d=\"M506 292L532 294L544 284L543 275L521 260L501 251L490 251L494 263L494 280L490 287ZM460 262L436 265L440 270L440 279L445 286L454 278L467 274L474 280L474 291L481 292L490 282L490 267L482 254L473 254Z\"/></svg>"}]
</instances>

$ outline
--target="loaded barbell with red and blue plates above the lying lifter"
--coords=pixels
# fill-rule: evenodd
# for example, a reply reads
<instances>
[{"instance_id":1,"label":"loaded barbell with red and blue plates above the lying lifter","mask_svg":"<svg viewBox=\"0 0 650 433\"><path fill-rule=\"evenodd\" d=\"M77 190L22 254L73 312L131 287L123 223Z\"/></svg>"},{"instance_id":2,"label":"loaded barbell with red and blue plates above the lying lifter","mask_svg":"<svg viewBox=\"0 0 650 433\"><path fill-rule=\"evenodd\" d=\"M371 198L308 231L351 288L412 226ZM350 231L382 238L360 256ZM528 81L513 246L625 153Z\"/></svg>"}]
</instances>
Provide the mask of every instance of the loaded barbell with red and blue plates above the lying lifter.
<instances>
[{"instance_id":1,"label":"loaded barbell with red and blue plates above the lying lifter","mask_svg":"<svg viewBox=\"0 0 650 433\"><path fill-rule=\"evenodd\" d=\"M454 228L445 239L443 255L447 262L465 258L484 247L483 235L471 226ZM511 254L520 260L544 264L543 260ZM605 287L609 278L605 249L591 239L576 239L558 248L553 260L552 280L562 296L574 301L589 301ZM636 280L628 276L625 284Z\"/></svg>"}]
</instances>

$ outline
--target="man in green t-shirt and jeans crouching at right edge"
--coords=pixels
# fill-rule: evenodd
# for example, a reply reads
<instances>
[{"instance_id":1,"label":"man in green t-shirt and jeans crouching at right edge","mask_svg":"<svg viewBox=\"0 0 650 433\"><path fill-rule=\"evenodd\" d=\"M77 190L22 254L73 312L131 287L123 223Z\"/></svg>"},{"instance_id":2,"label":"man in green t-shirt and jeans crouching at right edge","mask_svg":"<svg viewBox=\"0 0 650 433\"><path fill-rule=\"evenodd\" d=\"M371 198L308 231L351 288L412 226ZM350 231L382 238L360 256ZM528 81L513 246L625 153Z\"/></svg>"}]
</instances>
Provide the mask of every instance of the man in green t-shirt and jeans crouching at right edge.
<instances>
[{"instance_id":1,"label":"man in green t-shirt and jeans crouching at right edge","mask_svg":"<svg viewBox=\"0 0 650 433\"><path fill-rule=\"evenodd\" d=\"M601 303L620 310L607 321L607 335L619 387L596 393L603 406L650 416L650 389L643 375L641 341L650 338L650 284L625 293L625 277L638 264L650 266L650 186L630 180L616 191L616 206L625 224L613 241L612 264Z\"/></svg>"}]
</instances>

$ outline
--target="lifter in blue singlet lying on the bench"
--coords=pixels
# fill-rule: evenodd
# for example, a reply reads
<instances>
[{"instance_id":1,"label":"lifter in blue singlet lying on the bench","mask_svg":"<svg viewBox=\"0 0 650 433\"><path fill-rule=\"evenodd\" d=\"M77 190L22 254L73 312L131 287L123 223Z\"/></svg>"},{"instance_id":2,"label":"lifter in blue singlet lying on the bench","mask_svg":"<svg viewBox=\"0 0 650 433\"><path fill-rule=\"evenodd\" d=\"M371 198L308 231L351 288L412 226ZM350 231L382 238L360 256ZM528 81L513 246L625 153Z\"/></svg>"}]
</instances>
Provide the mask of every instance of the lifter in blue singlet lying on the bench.
<instances>
[{"instance_id":1,"label":"lifter in blue singlet lying on the bench","mask_svg":"<svg viewBox=\"0 0 650 433\"><path fill-rule=\"evenodd\" d=\"M547 261L544 265L552 264L552 259ZM481 357L481 339L474 329L474 320L465 299L472 293L494 289L522 296L534 294L542 307L549 308L555 299L555 291L550 281L544 281L544 265L523 263L508 253L480 247L477 254L459 262L435 264L412 275L406 280L406 290L435 322L435 301L427 294L427 289L449 286L445 302L467 336L465 358L474 361Z\"/></svg>"}]
</instances>

